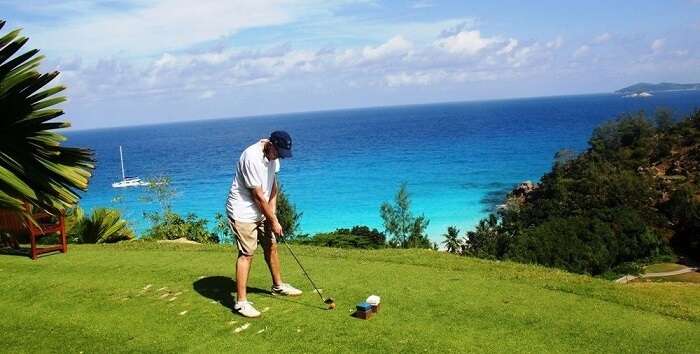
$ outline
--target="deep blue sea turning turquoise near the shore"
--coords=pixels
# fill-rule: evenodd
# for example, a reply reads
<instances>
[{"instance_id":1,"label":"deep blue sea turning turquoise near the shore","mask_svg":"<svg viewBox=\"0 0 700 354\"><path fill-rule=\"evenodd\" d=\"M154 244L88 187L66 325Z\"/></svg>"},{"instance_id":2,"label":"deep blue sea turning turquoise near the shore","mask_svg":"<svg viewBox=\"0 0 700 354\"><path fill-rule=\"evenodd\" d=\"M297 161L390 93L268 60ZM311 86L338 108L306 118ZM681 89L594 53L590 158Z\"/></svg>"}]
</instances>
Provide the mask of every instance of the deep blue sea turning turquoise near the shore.
<instances>
[{"instance_id":1,"label":"deep blue sea turning turquoise near the shore","mask_svg":"<svg viewBox=\"0 0 700 354\"><path fill-rule=\"evenodd\" d=\"M281 182L302 232L368 225L382 229L379 206L407 183L415 214L440 240L449 225L471 229L513 185L537 181L554 154L582 151L592 130L624 112L700 107L700 91L649 98L585 95L366 108L69 132L68 145L95 151L97 168L81 204L118 207L145 230L142 189L114 189L127 175L167 175L174 209L212 220L224 212L240 153L273 130L294 139ZM195 118L195 117L193 117Z\"/></svg>"}]
</instances>

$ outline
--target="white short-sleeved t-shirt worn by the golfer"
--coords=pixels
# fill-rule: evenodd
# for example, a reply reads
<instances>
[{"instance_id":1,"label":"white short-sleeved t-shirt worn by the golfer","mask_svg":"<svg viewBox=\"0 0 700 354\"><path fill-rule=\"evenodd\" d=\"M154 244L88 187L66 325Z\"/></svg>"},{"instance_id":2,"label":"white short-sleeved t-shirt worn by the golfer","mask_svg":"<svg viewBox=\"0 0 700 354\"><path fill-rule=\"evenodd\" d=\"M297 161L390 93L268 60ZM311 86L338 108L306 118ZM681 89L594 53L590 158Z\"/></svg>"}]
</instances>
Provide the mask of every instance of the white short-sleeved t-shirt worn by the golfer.
<instances>
[{"instance_id":1,"label":"white short-sleeved t-shirt worn by the golfer","mask_svg":"<svg viewBox=\"0 0 700 354\"><path fill-rule=\"evenodd\" d=\"M252 188L262 187L265 200L270 200L275 173L280 170L279 159L268 161L263 153L267 140L246 148L236 164L231 190L226 200L228 217L240 222L257 222L265 219L253 198Z\"/></svg>"}]
</instances>

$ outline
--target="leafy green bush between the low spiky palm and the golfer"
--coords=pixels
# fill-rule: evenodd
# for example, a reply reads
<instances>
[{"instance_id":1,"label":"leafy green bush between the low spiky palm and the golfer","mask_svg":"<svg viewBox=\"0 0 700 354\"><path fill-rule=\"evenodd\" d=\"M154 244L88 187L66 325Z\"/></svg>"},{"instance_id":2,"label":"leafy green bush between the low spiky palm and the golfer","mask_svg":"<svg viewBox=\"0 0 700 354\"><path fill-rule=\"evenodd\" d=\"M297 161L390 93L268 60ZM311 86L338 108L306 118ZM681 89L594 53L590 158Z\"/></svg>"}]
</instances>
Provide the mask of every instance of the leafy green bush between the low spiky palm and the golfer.
<instances>
[{"instance_id":1,"label":"leafy green bush between the low spiky palm and the golfer","mask_svg":"<svg viewBox=\"0 0 700 354\"><path fill-rule=\"evenodd\" d=\"M193 213L184 218L179 214L166 211L161 213L148 213L151 227L143 238L152 240L176 240L186 238L199 243L219 243L219 236L210 232L207 228L207 220L197 217Z\"/></svg>"}]
</instances>

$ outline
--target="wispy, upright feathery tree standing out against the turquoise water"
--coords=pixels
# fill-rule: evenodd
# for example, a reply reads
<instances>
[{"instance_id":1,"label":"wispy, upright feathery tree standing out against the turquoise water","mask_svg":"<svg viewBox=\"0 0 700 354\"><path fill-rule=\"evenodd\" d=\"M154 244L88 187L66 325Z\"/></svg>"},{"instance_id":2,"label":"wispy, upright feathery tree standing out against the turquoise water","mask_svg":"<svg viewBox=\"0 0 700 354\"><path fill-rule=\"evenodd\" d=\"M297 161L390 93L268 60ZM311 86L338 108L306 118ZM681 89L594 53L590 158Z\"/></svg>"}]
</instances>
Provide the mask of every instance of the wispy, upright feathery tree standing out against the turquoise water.
<instances>
[{"instance_id":1,"label":"wispy, upright feathery tree standing out against the turquoise water","mask_svg":"<svg viewBox=\"0 0 700 354\"><path fill-rule=\"evenodd\" d=\"M394 204L382 203L379 213L384 220L386 232L392 236L389 245L402 248L434 248L425 235L430 222L425 216L414 217L411 213L411 198L406 183L399 187Z\"/></svg>"}]
</instances>

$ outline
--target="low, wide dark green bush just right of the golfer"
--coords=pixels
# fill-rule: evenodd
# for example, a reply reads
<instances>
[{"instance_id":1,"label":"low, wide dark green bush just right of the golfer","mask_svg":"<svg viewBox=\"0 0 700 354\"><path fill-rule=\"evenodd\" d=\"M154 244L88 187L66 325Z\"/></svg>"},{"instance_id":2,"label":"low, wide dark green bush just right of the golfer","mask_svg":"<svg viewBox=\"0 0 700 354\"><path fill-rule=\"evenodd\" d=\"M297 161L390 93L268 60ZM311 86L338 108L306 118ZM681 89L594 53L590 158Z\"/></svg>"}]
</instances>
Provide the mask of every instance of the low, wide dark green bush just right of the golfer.
<instances>
[{"instance_id":1,"label":"low, wide dark green bush just right of the golfer","mask_svg":"<svg viewBox=\"0 0 700 354\"><path fill-rule=\"evenodd\" d=\"M337 248L386 247L386 236L377 229L370 229L367 226L336 229L334 232L319 233L308 238L297 238L295 241L307 245Z\"/></svg>"}]
</instances>

